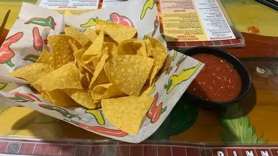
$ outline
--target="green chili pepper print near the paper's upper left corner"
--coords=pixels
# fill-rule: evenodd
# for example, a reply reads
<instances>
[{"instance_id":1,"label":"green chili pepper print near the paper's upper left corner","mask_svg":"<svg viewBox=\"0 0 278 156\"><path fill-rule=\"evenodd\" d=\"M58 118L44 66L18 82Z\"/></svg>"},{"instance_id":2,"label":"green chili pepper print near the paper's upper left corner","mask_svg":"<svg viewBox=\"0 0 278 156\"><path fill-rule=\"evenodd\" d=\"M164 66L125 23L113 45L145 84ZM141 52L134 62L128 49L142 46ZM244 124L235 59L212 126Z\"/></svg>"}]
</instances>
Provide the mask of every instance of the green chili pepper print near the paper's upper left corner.
<instances>
[{"instance_id":1,"label":"green chili pepper print near the paper's upper left corner","mask_svg":"<svg viewBox=\"0 0 278 156\"><path fill-rule=\"evenodd\" d=\"M49 16L47 18L34 17L26 21L24 24L30 24L30 23L40 25L42 27L50 27L53 30L56 27L56 22L52 16Z\"/></svg>"}]
</instances>

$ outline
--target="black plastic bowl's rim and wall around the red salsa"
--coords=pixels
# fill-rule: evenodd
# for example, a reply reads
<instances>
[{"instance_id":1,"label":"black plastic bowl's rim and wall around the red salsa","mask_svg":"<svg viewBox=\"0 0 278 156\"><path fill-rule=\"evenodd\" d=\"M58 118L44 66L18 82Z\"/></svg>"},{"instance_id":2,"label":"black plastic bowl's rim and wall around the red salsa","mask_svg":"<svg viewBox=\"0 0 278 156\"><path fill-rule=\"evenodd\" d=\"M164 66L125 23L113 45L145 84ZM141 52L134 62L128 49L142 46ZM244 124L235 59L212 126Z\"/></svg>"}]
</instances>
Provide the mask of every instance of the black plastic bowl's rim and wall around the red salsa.
<instances>
[{"instance_id":1,"label":"black plastic bowl's rim and wall around the red salsa","mask_svg":"<svg viewBox=\"0 0 278 156\"><path fill-rule=\"evenodd\" d=\"M184 52L184 54L188 56L192 56L194 54L199 54L199 53L206 53L206 54L212 54L218 57L221 57L228 61L231 65L233 65L239 74L241 75L241 81L242 81L242 88L239 96L231 101L226 101L226 102L214 102L214 101L208 101L203 98L199 98L193 94L191 94L189 91L186 91L183 96L186 96L189 100L192 102L205 107L205 108L220 108L220 107L225 107L229 106L231 104L234 104L238 101L240 101L243 97L246 96L248 91L250 90L251 87L251 77L248 69L246 66L234 55L228 53L225 50L218 49L218 48L213 48L213 47L194 47L191 49L188 49Z\"/></svg>"}]
</instances>

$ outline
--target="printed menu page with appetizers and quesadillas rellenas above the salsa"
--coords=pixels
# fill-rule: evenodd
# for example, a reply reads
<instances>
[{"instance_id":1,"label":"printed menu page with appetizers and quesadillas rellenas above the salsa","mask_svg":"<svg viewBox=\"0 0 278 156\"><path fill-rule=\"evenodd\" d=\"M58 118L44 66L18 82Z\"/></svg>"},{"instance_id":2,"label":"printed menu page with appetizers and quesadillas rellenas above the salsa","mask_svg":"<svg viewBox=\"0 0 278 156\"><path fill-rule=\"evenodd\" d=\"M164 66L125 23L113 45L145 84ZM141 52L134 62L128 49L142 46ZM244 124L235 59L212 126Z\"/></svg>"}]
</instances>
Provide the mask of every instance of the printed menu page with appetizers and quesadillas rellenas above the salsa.
<instances>
[{"instance_id":1,"label":"printed menu page with appetizers and quesadillas rellenas above the salsa","mask_svg":"<svg viewBox=\"0 0 278 156\"><path fill-rule=\"evenodd\" d=\"M216 0L160 0L166 41L235 39Z\"/></svg>"}]
</instances>

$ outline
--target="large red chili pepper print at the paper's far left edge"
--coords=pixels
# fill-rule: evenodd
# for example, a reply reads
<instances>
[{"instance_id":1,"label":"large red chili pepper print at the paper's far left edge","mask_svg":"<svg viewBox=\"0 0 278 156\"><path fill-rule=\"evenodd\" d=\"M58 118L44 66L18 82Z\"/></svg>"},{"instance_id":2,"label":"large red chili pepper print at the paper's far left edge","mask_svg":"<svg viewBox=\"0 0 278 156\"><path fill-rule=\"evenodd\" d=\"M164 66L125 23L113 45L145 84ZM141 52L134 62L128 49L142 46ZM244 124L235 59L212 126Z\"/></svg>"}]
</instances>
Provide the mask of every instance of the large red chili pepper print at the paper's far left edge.
<instances>
[{"instance_id":1,"label":"large red chili pepper print at the paper's far left edge","mask_svg":"<svg viewBox=\"0 0 278 156\"><path fill-rule=\"evenodd\" d=\"M11 61L11 59L15 56L15 53L12 49L10 49L10 45L19 41L22 36L23 36L23 32L18 32L16 34L14 34L13 36L10 36L3 42L3 44L0 48L0 63L1 64L6 63L10 67L15 66L15 64L13 64Z\"/></svg>"}]
</instances>

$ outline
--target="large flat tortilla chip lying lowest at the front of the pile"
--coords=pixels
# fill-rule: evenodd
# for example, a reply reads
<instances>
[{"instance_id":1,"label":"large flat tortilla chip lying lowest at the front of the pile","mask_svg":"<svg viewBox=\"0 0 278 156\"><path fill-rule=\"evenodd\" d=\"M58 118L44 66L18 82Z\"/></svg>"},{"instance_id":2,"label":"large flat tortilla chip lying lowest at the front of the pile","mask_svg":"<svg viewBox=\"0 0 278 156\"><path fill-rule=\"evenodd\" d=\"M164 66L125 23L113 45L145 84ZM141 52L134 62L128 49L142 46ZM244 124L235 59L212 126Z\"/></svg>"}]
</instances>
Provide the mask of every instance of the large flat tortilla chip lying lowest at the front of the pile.
<instances>
[{"instance_id":1,"label":"large flat tortilla chip lying lowest at the front of the pile","mask_svg":"<svg viewBox=\"0 0 278 156\"><path fill-rule=\"evenodd\" d=\"M117 128L136 135L154 98L149 96L104 99L101 102L105 117Z\"/></svg>"}]
</instances>

